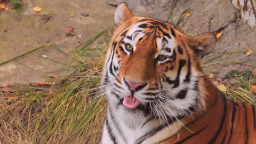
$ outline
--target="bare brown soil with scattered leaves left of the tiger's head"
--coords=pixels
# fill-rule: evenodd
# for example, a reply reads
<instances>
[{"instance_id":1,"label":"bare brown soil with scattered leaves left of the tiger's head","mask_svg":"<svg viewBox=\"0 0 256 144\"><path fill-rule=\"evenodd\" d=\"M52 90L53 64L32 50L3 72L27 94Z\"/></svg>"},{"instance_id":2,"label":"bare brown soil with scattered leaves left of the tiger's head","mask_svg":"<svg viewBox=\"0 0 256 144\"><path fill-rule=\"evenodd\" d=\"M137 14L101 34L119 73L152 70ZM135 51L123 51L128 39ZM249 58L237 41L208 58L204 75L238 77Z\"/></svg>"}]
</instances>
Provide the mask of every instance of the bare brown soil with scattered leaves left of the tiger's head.
<instances>
[{"instance_id":1,"label":"bare brown soil with scattered leaves left of the tiger's head","mask_svg":"<svg viewBox=\"0 0 256 144\"><path fill-rule=\"evenodd\" d=\"M106 0L26 0L22 4L25 11L21 13L17 14L14 10L0 13L0 63L47 44L58 44L72 50L79 44L79 35L83 38L81 41L85 41L111 25L115 12L115 6L109 5ZM7 6L11 7L12 3L7 3ZM43 10L36 13L33 11L35 6ZM74 13L73 18L70 13ZM89 13L89 16L82 17L81 13ZM46 21L44 18L49 15L52 17ZM75 28L75 36L66 36L69 26ZM61 65L43 59L41 55L62 63L71 59L67 53L54 47L36 51L0 66L0 85L42 82L47 76L62 74L48 74Z\"/></svg>"}]
</instances>

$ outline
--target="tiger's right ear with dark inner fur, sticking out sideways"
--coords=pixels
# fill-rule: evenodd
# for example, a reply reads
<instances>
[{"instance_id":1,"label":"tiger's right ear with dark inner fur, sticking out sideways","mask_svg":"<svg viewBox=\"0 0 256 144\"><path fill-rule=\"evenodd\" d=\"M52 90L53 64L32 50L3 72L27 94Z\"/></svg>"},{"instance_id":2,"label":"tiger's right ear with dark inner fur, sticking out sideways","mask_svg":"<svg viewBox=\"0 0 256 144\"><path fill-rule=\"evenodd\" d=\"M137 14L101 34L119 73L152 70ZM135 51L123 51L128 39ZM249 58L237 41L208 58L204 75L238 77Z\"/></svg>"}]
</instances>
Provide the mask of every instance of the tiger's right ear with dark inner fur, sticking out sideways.
<instances>
[{"instance_id":1,"label":"tiger's right ear with dark inner fur, sticking out sideways","mask_svg":"<svg viewBox=\"0 0 256 144\"><path fill-rule=\"evenodd\" d=\"M204 55L212 52L216 42L217 37L215 33L206 33L189 38L188 45L194 51L195 59L201 61Z\"/></svg>"}]
</instances>

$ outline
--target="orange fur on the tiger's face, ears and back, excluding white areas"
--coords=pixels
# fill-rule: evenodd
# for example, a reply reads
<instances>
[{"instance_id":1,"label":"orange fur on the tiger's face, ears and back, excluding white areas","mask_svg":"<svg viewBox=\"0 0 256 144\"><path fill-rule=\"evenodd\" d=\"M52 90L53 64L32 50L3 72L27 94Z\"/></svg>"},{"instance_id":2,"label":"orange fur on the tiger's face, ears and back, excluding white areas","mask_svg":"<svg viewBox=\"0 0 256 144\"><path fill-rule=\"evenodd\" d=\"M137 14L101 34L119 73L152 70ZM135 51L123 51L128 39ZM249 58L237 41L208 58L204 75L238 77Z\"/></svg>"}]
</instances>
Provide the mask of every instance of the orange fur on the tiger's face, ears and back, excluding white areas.
<instances>
[{"instance_id":1,"label":"orange fur on the tiger's face, ears and back, excluding white areas","mask_svg":"<svg viewBox=\"0 0 256 144\"><path fill-rule=\"evenodd\" d=\"M157 88L154 84L159 81L158 74L166 68L173 67L173 71L168 71L166 74L175 76L180 59L190 60L191 71L197 71L199 74L199 102L197 108L194 109L193 118L185 116L180 119L187 129L182 127L178 132L180 133L179 137L174 134L159 143L256 143L256 108L227 100L225 95L215 88L210 79L205 76L200 66L201 57L210 53L215 46L215 35L206 33L201 36L190 37L169 22L136 17L132 15L125 3L121 3L121 5L123 6L121 21L117 22L119 25L113 35L107 57L110 57L114 43L122 41L122 33L129 30L138 21L145 19L147 20L143 23L147 24L147 28L144 28L143 31L155 33L156 36L163 36L164 34L159 30L149 28L151 20L170 27L173 31L162 25L158 26L164 33L175 33L175 45L182 47L183 54L179 54L178 50L175 49L178 54L174 62L157 66L149 65L149 63L154 63L156 59L154 55L157 53L157 50L153 49L155 42L152 41L154 39L152 36L138 42L136 52L131 56L123 54L120 49L115 49L114 54L118 54L119 65L122 67L116 77L118 81L121 81L122 77L126 77L135 82L149 83L152 88ZM187 67L188 62L182 71L188 71Z\"/></svg>"}]
</instances>

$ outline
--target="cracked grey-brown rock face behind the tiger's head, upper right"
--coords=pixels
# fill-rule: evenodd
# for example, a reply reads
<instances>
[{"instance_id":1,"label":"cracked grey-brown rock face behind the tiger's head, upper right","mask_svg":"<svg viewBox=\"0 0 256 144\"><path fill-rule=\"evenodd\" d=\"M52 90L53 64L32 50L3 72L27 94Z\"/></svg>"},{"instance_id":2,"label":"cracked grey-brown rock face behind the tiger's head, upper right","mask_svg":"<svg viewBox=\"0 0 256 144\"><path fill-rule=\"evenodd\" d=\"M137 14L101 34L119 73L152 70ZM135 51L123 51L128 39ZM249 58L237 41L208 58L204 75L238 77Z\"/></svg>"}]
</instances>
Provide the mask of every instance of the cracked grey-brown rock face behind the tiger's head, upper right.
<instances>
[{"instance_id":1,"label":"cracked grey-brown rock face behind the tiger's head, upper right","mask_svg":"<svg viewBox=\"0 0 256 144\"><path fill-rule=\"evenodd\" d=\"M218 39L214 51L207 55L204 60L211 59L222 54L222 57L209 63L219 62L219 64L204 67L204 69L217 69L219 76L223 76L231 69L255 68L255 61L244 64L232 64L224 66L230 62L239 62L255 59L253 53L247 57L246 52L252 50L256 52L256 27L250 27L243 23L241 19L241 6L234 6L233 1L229 0L107 0L111 5L118 5L126 2L131 7L135 15L142 17L153 17L167 20L172 9L170 22L176 23L185 11L190 13L190 17L183 17L179 27L187 34L195 36L206 33L207 31L218 31L222 37ZM244 0L240 0L244 1ZM250 0L248 0L249 2ZM236 1L237 2L237 1ZM240 10L239 10L240 9ZM251 13L252 14L252 11ZM244 14L246 15L246 14ZM246 23L246 22L245 22ZM247 23L250 22L247 20ZM252 26L252 25L251 25ZM249 64L249 65L247 65Z\"/></svg>"}]
</instances>

